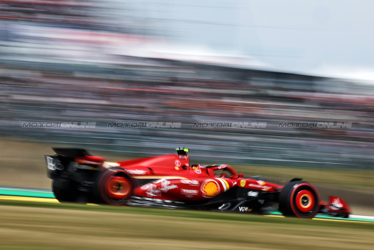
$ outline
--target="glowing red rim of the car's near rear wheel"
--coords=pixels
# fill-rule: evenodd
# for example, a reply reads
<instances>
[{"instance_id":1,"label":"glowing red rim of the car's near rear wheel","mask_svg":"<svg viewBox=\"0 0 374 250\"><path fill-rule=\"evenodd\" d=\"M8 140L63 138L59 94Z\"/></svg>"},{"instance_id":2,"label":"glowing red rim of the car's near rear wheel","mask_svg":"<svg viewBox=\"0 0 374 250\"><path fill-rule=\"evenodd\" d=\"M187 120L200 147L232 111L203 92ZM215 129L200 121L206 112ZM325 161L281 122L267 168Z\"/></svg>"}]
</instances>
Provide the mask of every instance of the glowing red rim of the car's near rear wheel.
<instances>
[{"instance_id":1,"label":"glowing red rim of the car's near rear wheel","mask_svg":"<svg viewBox=\"0 0 374 250\"><path fill-rule=\"evenodd\" d=\"M112 199L124 200L131 193L131 183L126 177L110 176L105 185L105 191Z\"/></svg>"}]
</instances>

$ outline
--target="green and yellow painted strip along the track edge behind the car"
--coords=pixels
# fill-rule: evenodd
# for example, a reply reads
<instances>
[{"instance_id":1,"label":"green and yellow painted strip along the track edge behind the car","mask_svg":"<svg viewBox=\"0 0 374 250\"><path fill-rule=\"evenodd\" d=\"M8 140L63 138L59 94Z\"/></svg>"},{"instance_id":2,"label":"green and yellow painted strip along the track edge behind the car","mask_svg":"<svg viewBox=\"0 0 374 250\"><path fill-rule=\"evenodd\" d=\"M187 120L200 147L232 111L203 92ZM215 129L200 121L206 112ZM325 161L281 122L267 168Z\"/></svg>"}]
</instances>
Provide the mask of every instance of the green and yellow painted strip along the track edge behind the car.
<instances>
[{"instance_id":1,"label":"green and yellow painted strip along the track edge behind the car","mask_svg":"<svg viewBox=\"0 0 374 250\"><path fill-rule=\"evenodd\" d=\"M0 186L0 200L13 201L33 201L33 202L47 202L59 203L50 189L33 189L25 187L6 187ZM96 204L87 204L96 205ZM151 208L150 208L151 209ZM266 216L282 217L280 212L271 212ZM337 218L325 215L316 215L312 220L341 220L350 222L371 222L374 223L374 216L359 216L350 215L349 218Z\"/></svg>"}]
</instances>

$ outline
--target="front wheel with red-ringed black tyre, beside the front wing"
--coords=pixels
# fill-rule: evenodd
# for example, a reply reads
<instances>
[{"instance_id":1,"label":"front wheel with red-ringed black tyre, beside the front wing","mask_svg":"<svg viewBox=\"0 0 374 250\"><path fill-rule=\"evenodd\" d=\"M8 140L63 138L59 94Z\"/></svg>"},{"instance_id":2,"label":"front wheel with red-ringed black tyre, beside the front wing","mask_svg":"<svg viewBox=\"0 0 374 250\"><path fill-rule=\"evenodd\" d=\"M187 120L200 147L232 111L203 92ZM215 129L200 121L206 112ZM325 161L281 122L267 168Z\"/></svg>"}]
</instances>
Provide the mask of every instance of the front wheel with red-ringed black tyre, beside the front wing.
<instances>
[{"instance_id":1,"label":"front wheel with red-ringed black tyre, beside the front wing","mask_svg":"<svg viewBox=\"0 0 374 250\"><path fill-rule=\"evenodd\" d=\"M279 194L279 211L284 216L313 218L319 210L319 192L306 181L293 181L283 187Z\"/></svg>"}]
</instances>

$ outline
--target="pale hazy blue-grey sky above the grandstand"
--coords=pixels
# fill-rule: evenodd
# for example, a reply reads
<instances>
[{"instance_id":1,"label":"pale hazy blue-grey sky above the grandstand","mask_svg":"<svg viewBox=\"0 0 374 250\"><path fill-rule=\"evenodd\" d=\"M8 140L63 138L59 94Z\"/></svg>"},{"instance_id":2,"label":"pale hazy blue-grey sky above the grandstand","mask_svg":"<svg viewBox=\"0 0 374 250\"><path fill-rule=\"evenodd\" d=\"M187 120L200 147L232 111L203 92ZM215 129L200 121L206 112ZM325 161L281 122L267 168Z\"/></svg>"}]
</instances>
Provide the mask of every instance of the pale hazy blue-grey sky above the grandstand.
<instances>
[{"instance_id":1,"label":"pale hazy blue-grey sky above the grandstand","mask_svg":"<svg viewBox=\"0 0 374 250\"><path fill-rule=\"evenodd\" d=\"M374 1L110 0L168 42L279 71L374 80ZM131 17L129 17L131 16Z\"/></svg>"}]
</instances>

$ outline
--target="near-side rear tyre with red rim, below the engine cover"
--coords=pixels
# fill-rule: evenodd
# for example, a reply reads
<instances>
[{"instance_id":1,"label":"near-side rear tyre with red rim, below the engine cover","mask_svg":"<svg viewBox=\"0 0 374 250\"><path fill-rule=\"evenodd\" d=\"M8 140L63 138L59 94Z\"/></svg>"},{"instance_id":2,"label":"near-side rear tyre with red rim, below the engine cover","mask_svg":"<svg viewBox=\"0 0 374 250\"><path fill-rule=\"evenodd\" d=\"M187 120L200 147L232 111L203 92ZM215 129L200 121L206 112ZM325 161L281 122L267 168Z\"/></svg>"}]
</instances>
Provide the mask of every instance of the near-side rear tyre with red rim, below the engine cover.
<instances>
[{"instance_id":1,"label":"near-side rear tyre with red rim, below the engine cover","mask_svg":"<svg viewBox=\"0 0 374 250\"><path fill-rule=\"evenodd\" d=\"M99 201L110 205L126 205L132 195L133 184L123 168L108 168L96 180L95 191Z\"/></svg>"}]
</instances>

